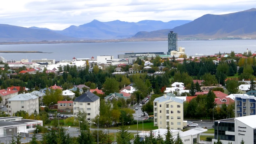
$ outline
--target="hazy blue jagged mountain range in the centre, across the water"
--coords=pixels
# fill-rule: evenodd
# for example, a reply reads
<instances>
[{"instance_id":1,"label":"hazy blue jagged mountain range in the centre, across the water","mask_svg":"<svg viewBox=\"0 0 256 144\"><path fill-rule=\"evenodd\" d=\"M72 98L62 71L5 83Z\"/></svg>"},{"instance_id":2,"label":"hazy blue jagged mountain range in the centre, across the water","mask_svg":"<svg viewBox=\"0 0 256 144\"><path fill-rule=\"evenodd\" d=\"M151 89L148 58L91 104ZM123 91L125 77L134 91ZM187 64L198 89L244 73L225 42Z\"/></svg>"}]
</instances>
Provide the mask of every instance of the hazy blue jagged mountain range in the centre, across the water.
<instances>
[{"instance_id":1,"label":"hazy blue jagged mountain range in the centre, across the water","mask_svg":"<svg viewBox=\"0 0 256 144\"><path fill-rule=\"evenodd\" d=\"M114 20L110 22L92 22L80 25L70 26L62 31L56 31L59 34L83 39L113 39L128 38L140 31L151 32L159 29L172 29L175 26L191 22L189 20L175 20L162 22L155 20L143 20L139 22L124 22Z\"/></svg>"}]
</instances>

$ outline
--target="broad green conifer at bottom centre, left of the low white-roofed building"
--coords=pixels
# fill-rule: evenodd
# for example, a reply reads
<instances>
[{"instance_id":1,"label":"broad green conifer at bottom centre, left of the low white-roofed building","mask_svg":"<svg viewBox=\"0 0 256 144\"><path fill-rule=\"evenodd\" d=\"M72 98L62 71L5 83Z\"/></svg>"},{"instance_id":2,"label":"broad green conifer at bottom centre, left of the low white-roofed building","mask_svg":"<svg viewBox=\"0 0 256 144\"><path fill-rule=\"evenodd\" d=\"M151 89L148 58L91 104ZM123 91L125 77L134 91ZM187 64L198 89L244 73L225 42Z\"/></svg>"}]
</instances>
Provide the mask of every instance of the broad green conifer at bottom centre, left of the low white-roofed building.
<instances>
[{"instance_id":1,"label":"broad green conifer at bottom centre, left of the low white-roofed building","mask_svg":"<svg viewBox=\"0 0 256 144\"><path fill-rule=\"evenodd\" d=\"M131 142L130 142L130 140L131 140L130 135L131 135L131 133L129 133L127 131L127 127L124 124L122 124L119 127L119 131L116 134L116 142L117 142L117 144L131 144Z\"/></svg>"}]
</instances>

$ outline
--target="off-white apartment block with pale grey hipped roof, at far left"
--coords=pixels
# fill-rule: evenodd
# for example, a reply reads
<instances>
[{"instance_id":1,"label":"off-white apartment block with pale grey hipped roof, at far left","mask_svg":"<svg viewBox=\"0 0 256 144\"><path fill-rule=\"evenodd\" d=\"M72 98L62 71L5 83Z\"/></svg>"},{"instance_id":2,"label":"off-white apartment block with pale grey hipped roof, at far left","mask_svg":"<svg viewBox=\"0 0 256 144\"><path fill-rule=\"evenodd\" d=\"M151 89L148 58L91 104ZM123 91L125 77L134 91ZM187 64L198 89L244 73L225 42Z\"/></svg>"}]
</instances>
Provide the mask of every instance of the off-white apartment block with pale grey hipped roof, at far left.
<instances>
[{"instance_id":1,"label":"off-white apartment block with pale grey hipped roof, at far left","mask_svg":"<svg viewBox=\"0 0 256 144\"><path fill-rule=\"evenodd\" d=\"M8 112L12 116L17 111L24 110L31 115L36 110L39 112L38 96L30 93L19 94L8 99Z\"/></svg>"}]
</instances>

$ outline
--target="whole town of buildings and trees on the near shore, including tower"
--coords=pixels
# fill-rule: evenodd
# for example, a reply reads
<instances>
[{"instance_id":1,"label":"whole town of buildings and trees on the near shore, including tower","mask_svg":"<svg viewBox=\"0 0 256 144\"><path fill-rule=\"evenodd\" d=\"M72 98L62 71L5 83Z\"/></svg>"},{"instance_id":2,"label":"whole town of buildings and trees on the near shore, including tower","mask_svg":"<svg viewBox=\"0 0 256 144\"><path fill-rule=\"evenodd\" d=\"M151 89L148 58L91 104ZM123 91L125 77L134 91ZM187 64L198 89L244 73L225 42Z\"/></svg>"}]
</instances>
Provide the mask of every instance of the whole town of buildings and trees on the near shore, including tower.
<instances>
[{"instance_id":1,"label":"whole town of buildings and trees on the near shore, including tower","mask_svg":"<svg viewBox=\"0 0 256 144\"><path fill-rule=\"evenodd\" d=\"M172 31L166 54L1 56L1 141L255 143L255 56L186 55Z\"/></svg>"}]
</instances>

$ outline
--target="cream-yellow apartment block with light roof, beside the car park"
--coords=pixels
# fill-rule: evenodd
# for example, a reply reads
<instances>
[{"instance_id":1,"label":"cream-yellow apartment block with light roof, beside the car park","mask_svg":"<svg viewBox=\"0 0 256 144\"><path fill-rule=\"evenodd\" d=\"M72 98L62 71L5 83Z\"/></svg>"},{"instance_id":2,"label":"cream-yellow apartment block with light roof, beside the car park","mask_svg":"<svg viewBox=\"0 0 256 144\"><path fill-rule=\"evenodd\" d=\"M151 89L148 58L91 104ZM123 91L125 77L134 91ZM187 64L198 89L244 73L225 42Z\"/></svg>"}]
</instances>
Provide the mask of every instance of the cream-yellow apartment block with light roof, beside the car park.
<instances>
[{"instance_id":1,"label":"cream-yellow apartment block with light roof, beside the car park","mask_svg":"<svg viewBox=\"0 0 256 144\"><path fill-rule=\"evenodd\" d=\"M154 126L172 130L183 129L183 100L171 96L161 96L154 100Z\"/></svg>"}]
</instances>

